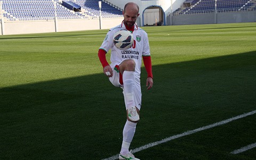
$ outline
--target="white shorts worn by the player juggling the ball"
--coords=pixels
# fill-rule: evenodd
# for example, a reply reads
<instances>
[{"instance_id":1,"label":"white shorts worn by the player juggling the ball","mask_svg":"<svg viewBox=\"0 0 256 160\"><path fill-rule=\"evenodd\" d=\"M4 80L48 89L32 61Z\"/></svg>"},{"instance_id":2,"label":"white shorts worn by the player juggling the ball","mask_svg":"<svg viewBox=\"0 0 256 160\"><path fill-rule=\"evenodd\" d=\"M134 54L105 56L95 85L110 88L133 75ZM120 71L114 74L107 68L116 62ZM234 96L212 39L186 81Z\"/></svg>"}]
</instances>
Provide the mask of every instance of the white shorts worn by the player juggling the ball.
<instances>
[{"instance_id":1,"label":"white shorts worn by the player juggling the ball","mask_svg":"<svg viewBox=\"0 0 256 160\"><path fill-rule=\"evenodd\" d=\"M119 66L115 65L113 68L113 76L109 77L109 81L116 87L121 87L124 90L123 86L123 76L119 73ZM122 83L122 84L121 84ZM124 92L123 92L124 93ZM140 79L135 78L134 83L134 103L135 106L140 110L141 108L141 86L140 86Z\"/></svg>"}]
</instances>

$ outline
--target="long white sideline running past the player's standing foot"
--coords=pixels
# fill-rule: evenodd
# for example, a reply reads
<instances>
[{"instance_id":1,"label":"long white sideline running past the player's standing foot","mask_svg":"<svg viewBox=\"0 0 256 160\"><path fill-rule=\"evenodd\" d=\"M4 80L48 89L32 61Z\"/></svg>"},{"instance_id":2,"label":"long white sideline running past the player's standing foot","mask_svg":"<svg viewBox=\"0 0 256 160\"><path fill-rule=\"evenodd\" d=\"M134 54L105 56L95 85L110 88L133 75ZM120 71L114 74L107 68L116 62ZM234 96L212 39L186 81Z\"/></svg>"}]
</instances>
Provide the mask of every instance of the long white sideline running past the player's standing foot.
<instances>
[{"instance_id":1,"label":"long white sideline running past the player's standing foot","mask_svg":"<svg viewBox=\"0 0 256 160\"><path fill-rule=\"evenodd\" d=\"M253 111L251 111L251 112L249 112L249 113L245 113L245 114L242 114L242 115L239 115L239 116L236 116L236 117L233 117L233 118L229 118L229 119L226 119L226 120L217 122L217 123L213 123L213 124L210 124L210 125L206 125L206 126L200 127L200 128L198 128L198 129L195 129L195 130L186 131L186 132L183 132L183 133L181 133L181 134L173 135L172 137L168 137L168 138L162 139L162 140L160 140L160 141L148 143L148 145L141 146L141 147L139 147L139 148L133 149L133 150L132 150L132 153L137 153L138 151L145 150L145 149L147 149L147 148L154 147L154 146L160 145L161 143L165 143L165 142L168 142L168 141L171 141L171 140L180 138L180 137L184 137L184 136L186 136L186 135L194 134L194 133L199 132L199 131L204 131L204 130L207 130L207 129L211 129L212 127L215 127L215 126L227 124L227 123L229 123L229 122L235 121L236 119L244 118L244 117L253 115L253 114L255 114L255 113L256 113L256 110L253 110ZM118 158L118 154L117 154L117 155L114 155L114 156L112 156L112 157L106 158L106 159L102 159L102 160L113 160L113 159L117 159L117 158Z\"/></svg>"}]
</instances>

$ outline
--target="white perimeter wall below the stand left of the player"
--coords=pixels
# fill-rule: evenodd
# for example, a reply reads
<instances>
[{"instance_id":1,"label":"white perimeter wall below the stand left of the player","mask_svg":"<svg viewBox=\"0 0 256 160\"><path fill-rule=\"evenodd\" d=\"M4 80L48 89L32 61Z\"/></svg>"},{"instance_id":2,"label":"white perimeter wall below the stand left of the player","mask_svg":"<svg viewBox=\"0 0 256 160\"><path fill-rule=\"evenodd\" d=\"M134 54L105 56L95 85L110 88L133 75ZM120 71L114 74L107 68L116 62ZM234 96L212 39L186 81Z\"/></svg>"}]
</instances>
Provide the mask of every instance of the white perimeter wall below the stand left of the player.
<instances>
[{"instance_id":1,"label":"white perimeter wall below the stand left of the player","mask_svg":"<svg viewBox=\"0 0 256 160\"><path fill-rule=\"evenodd\" d=\"M101 29L110 29L119 25L123 18L101 19ZM1 23L2 25L2 23ZM2 26L0 27L2 28ZM90 20L58 20L58 31L78 31L100 29L99 19ZM42 21L7 21L3 23L0 35L52 33L55 32L54 20Z\"/></svg>"}]
</instances>

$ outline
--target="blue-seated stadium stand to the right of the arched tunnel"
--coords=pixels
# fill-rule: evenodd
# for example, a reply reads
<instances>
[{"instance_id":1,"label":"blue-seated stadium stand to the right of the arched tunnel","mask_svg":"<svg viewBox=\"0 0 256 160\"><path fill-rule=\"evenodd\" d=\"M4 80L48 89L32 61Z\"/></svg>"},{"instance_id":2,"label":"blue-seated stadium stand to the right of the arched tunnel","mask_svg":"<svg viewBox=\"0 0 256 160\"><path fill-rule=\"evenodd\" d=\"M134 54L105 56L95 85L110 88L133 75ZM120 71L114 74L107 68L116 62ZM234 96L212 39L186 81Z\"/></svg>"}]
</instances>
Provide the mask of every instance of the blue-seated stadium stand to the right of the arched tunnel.
<instances>
[{"instance_id":1,"label":"blue-seated stadium stand to the right of the arched tunnel","mask_svg":"<svg viewBox=\"0 0 256 160\"><path fill-rule=\"evenodd\" d=\"M252 0L218 0L217 12L241 11L253 9L255 7ZM253 7L251 7L253 6ZM193 14L215 11L215 0L187 0L183 3L182 8L173 12L177 14Z\"/></svg>"}]
</instances>

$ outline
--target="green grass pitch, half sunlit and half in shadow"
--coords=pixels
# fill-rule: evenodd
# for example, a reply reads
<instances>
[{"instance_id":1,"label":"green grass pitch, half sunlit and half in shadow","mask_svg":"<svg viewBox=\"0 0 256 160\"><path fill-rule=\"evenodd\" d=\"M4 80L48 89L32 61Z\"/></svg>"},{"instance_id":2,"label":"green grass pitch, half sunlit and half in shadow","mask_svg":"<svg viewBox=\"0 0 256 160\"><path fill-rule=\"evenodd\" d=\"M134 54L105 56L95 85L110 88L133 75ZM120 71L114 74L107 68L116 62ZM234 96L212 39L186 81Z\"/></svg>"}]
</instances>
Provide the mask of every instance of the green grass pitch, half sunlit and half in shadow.
<instances>
[{"instance_id":1,"label":"green grass pitch, half sunlit and half in shadow","mask_svg":"<svg viewBox=\"0 0 256 160\"><path fill-rule=\"evenodd\" d=\"M256 110L256 23L145 27L131 149ZM122 90L102 74L108 30L0 36L0 159L103 159L119 153ZM109 60L110 54L107 54ZM255 159L256 115L135 153L140 159Z\"/></svg>"}]
</instances>

